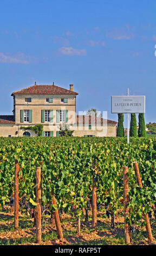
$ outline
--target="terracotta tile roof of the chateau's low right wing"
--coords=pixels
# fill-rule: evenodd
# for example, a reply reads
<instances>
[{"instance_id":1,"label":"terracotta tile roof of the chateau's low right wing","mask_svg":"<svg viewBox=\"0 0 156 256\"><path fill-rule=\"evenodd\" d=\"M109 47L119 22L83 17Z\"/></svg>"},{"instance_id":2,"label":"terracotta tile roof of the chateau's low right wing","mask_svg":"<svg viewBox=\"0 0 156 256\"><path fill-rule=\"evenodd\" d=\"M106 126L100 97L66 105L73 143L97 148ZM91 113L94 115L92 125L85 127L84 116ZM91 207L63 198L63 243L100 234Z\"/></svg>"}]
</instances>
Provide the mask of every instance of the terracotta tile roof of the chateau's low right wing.
<instances>
[{"instance_id":1,"label":"terracotta tile roof of the chateau's low right wing","mask_svg":"<svg viewBox=\"0 0 156 256\"><path fill-rule=\"evenodd\" d=\"M118 122L95 117L94 115L76 115L77 124L117 124Z\"/></svg>"}]
</instances>

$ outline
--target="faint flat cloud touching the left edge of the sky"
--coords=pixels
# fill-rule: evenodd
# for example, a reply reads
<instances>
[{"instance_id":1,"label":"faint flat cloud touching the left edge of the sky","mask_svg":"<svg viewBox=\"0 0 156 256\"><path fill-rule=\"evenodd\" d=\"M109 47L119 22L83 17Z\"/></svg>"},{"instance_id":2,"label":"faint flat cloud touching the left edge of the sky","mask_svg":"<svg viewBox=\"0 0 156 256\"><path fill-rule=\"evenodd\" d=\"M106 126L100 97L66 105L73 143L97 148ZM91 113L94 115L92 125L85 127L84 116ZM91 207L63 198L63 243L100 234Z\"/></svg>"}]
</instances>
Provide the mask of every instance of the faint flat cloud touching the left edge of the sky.
<instances>
[{"instance_id":1,"label":"faint flat cloud touching the left edge of the sky","mask_svg":"<svg viewBox=\"0 0 156 256\"><path fill-rule=\"evenodd\" d=\"M24 53L18 52L15 55L10 53L0 52L0 63L21 63L29 64L30 62L36 60L34 56L25 56Z\"/></svg>"}]
</instances>

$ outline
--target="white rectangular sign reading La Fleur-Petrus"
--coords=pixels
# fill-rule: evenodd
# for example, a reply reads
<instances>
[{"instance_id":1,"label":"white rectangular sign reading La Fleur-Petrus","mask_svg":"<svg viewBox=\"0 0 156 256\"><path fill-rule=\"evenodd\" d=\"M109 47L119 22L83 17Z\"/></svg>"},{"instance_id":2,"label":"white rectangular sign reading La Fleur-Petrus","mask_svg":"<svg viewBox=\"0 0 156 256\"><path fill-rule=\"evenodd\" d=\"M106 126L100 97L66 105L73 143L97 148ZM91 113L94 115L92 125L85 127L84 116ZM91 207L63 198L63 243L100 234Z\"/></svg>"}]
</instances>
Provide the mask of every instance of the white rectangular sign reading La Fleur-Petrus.
<instances>
[{"instance_id":1,"label":"white rectangular sign reading La Fleur-Petrus","mask_svg":"<svg viewBox=\"0 0 156 256\"><path fill-rule=\"evenodd\" d=\"M111 113L145 113L145 96L112 96Z\"/></svg>"}]
</instances>

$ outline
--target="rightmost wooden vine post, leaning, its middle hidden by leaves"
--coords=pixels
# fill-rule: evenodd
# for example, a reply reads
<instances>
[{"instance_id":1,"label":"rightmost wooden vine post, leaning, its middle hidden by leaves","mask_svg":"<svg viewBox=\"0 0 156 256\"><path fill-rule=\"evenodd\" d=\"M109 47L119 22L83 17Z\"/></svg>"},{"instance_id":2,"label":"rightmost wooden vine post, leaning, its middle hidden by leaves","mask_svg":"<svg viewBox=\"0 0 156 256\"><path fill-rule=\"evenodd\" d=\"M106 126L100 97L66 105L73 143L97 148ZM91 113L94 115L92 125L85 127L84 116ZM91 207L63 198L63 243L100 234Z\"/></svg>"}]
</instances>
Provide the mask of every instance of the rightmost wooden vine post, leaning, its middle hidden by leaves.
<instances>
[{"instance_id":1,"label":"rightmost wooden vine post, leaning, its middle hidden by leaves","mask_svg":"<svg viewBox=\"0 0 156 256\"><path fill-rule=\"evenodd\" d=\"M134 167L135 173L137 175L137 182L140 185L140 187L142 187L138 162L133 162L133 167ZM143 212L143 214L144 214L144 212ZM146 232L147 232L148 241L150 243L152 243L153 242L153 236L152 236L152 230L151 230L151 225L150 225L150 221L149 221L149 218L148 218L148 214L144 214L144 216L145 216L145 220L146 220Z\"/></svg>"}]
</instances>

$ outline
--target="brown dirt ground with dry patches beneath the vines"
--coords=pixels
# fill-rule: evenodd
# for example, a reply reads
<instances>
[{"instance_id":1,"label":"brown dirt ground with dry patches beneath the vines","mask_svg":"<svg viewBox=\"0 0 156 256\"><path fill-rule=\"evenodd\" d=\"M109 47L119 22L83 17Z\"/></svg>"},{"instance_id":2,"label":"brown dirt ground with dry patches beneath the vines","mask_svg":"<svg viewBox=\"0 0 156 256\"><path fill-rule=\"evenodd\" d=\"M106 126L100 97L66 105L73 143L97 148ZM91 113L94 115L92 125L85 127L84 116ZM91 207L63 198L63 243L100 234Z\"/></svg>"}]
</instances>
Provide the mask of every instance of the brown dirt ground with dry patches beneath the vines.
<instances>
[{"instance_id":1,"label":"brown dirt ground with dry patches beneath the vines","mask_svg":"<svg viewBox=\"0 0 156 256\"><path fill-rule=\"evenodd\" d=\"M20 216L20 215L19 215ZM22 216L22 215L21 215ZM2 240L16 240L21 237L27 238L27 237L35 237L36 234L36 228L18 228L17 230L14 230L14 214L10 212L1 212L0 214L1 220L0 221L0 241ZM6 221L5 221L6 220ZM74 235L64 235L64 238L62 240L59 239L50 239L42 242L42 245L76 245L80 242L83 242L84 244L89 241L94 241L94 244L98 245L98 240L101 240L103 237L107 239L107 242L111 244L112 237L118 236L118 237L124 237L124 225L122 227L115 227L114 229L111 229L111 218L102 218L98 217L97 222L97 229L92 229L92 221L81 221L81 233L76 235L77 231L77 223L71 222L71 215L68 214L62 214L60 216L61 220L61 226L63 233L66 233L68 231L69 233L71 231L74 231ZM66 220L66 222L63 222L63 220ZM69 220L69 221L68 221ZM34 221L34 219L29 219L29 221ZM115 224L123 224L124 223L124 217L115 217ZM116 225L115 225L116 226ZM105 227L102 229L102 227ZM107 229L108 227L108 229ZM92 231L89 231L92 229ZM145 229L146 230L146 229ZM55 223L50 223L47 226L45 226L42 229L42 234L52 233L53 231L56 231ZM97 241L97 243L96 243ZM142 245L148 245L148 240L145 238L141 241ZM20 245L20 244L19 244ZM25 242L21 245L39 245L36 242Z\"/></svg>"}]
</instances>

